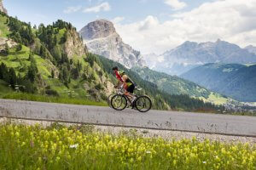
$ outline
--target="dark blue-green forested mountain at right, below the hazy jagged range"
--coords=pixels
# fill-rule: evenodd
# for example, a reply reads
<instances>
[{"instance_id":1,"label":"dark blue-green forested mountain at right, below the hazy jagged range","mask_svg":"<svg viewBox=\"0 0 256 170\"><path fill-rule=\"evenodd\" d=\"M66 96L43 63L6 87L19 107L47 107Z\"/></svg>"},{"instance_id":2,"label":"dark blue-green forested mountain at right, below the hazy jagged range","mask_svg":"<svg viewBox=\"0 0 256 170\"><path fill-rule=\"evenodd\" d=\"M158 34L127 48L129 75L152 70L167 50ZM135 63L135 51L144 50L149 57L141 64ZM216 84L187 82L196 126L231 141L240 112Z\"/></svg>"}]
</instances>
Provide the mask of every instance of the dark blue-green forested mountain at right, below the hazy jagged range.
<instances>
[{"instance_id":1,"label":"dark blue-green forested mountain at right, below the hazy jagged range","mask_svg":"<svg viewBox=\"0 0 256 170\"><path fill-rule=\"evenodd\" d=\"M181 77L243 102L256 101L256 65L206 64Z\"/></svg>"}]
</instances>

